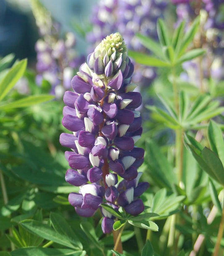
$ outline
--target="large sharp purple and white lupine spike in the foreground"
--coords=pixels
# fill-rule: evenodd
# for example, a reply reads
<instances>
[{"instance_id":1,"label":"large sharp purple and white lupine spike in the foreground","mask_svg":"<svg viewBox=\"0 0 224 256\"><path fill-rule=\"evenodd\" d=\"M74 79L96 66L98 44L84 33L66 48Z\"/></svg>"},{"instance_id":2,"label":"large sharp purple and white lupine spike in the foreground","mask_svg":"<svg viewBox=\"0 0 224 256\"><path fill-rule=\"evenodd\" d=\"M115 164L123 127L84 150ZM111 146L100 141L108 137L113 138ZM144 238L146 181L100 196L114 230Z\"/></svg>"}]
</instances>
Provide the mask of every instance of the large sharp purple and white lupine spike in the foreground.
<instances>
[{"instance_id":1,"label":"large sharp purple and white lupine spike in the foreground","mask_svg":"<svg viewBox=\"0 0 224 256\"><path fill-rule=\"evenodd\" d=\"M62 133L60 142L72 169L66 181L79 186L69 202L76 213L92 216L101 203L132 215L144 210L138 197L148 188L138 182L144 149L134 147L142 133L142 118L135 109L142 99L130 83L134 66L119 33L106 37L87 57L66 91L62 124L73 134ZM120 182L119 182L120 181ZM113 230L114 217L101 209L104 233Z\"/></svg>"}]
</instances>

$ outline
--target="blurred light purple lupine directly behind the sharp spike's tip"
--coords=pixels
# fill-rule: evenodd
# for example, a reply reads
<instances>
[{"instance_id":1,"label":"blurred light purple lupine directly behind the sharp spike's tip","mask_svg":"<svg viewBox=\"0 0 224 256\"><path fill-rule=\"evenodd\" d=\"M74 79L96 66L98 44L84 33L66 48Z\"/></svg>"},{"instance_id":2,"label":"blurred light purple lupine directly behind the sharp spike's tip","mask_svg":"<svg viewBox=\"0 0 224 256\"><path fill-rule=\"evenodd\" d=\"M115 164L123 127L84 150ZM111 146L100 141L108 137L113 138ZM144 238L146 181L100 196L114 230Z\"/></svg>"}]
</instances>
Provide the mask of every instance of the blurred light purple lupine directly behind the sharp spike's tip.
<instances>
[{"instance_id":1,"label":"blurred light purple lupine directly behind the sharp spike's tip","mask_svg":"<svg viewBox=\"0 0 224 256\"><path fill-rule=\"evenodd\" d=\"M157 38L156 22L163 16L166 6L166 0L101 0L93 10L93 29L87 34L87 40L97 45L106 35L118 31L129 49L145 52L145 47L134 35L138 32ZM148 85L155 75L154 69L135 64L132 80L140 85Z\"/></svg>"}]
</instances>

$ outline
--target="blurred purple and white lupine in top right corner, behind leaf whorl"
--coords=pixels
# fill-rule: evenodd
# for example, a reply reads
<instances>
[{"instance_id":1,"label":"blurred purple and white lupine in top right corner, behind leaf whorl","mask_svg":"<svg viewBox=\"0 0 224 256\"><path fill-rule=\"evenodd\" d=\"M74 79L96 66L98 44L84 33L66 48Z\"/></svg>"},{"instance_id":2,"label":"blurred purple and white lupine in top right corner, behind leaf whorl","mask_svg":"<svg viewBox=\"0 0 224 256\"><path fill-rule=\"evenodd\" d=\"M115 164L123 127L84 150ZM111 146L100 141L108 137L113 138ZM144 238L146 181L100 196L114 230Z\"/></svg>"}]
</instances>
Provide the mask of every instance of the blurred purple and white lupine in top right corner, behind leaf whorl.
<instances>
[{"instance_id":1,"label":"blurred purple and white lupine in top right corner, behind leaf whorl","mask_svg":"<svg viewBox=\"0 0 224 256\"><path fill-rule=\"evenodd\" d=\"M202 72L203 77L209 79L212 77L215 81L224 78L223 64L223 29L224 29L224 3L217 0L202 0L200 4L195 1L171 0L177 5L178 23L186 21L189 26L196 16L200 14L200 47L205 48L208 55L203 57ZM221 18L222 17L222 18ZM200 67L195 60L187 61L183 65L184 72L181 74L183 80L189 83L195 83L200 86Z\"/></svg>"}]
</instances>

